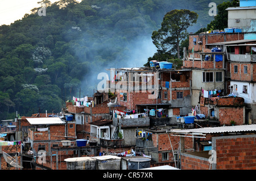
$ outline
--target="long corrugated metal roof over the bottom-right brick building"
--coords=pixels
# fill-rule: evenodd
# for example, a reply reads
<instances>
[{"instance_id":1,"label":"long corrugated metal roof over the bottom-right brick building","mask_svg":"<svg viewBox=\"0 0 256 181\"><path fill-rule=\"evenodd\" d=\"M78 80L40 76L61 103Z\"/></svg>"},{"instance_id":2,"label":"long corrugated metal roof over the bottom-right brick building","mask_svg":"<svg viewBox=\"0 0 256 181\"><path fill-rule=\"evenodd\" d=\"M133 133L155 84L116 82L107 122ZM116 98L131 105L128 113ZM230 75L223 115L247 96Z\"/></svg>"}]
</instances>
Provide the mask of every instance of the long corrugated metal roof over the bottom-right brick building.
<instances>
[{"instance_id":1,"label":"long corrugated metal roof over the bottom-right brick building","mask_svg":"<svg viewBox=\"0 0 256 181\"><path fill-rule=\"evenodd\" d=\"M250 125L236 125L229 127L207 127L207 128L195 128L195 129L171 129L168 132L173 133L187 133L187 134L195 134L195 133L225 133L225 132L250 132L256 131L256 124Z\"/></svg>"}]
</instances>

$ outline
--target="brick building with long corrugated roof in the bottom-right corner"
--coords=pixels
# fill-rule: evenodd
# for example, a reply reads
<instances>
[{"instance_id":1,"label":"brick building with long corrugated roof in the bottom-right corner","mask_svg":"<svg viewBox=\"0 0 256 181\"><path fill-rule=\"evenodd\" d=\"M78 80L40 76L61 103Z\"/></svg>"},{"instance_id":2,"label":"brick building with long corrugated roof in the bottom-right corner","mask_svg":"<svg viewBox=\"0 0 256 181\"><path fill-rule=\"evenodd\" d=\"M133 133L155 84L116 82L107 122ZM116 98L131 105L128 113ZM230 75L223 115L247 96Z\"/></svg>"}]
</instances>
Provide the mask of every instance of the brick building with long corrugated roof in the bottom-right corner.
<instances>
[{"instance_id":1,"label":"brick building with long corrugated roof in the bottom-right corner","mask_svg":"<svg viewBox=\"0 0 256 181\"><path fill-rule=\"evenodd\" d=\"M256 169L254 124L168 132L180 136L180 139L184 139L183 136L193 137L193 149L196 151L181 153L181 169Z\"/></svg>"}]
</instances>

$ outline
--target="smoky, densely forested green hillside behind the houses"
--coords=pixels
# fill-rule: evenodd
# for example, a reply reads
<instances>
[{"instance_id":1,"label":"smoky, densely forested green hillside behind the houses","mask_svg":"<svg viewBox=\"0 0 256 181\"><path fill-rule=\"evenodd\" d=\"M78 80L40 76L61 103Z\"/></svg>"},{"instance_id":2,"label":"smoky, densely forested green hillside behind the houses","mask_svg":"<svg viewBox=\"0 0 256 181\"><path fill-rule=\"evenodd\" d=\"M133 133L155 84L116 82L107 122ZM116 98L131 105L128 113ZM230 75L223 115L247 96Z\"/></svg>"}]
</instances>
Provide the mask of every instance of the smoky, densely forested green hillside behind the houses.
<instances>
[{"instance_id":1,"label":"smoky, densely forested green hillside behind the houses","mask_svg":"<svg viewBox=\"0 0 256 181\"><path fill-rule=\"evenodd\" d=\"M156 48L151 35L173 9L197 12L196 32L221 0L61 0L0 27L0 119L59 112L72 96L92 95L106 68L143 66ZM80 89L81 88L81 89Z\"/></svg>"}]
</instances>

